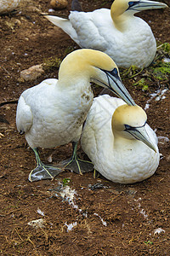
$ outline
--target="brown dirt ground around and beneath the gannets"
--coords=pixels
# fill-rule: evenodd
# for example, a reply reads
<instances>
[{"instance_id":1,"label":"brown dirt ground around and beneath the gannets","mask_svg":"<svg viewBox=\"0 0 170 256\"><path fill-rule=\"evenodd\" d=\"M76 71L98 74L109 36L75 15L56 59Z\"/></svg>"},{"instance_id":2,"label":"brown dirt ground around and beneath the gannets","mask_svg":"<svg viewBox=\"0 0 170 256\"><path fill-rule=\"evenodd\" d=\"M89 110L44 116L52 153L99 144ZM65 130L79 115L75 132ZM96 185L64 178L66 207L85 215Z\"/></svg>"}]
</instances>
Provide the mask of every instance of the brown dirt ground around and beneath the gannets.
<instances>
[{"instance_id":1,"label":"brown dirt ground around and beneath the gannets","mask_svg":"<svg viewBox=\"0 0 170 256\"><path fill-rule=\"evenodd\" d=\"M163 1L162 1L163 2ZM166 0L164 1L166 3ZM167 0L167 3L169 1ZM109 8L111 1L82 1L84 10ZM58 14L68 15L67 9ZM0 102L18 99L21 92L39 84L43 79L57 77L57 68L46 71L34 82L21 82L20 71L40 64L50 56L61 59L72 49L78 49L71 38L39 15L38 9L48 12L48 0L26 0L20 3L21 13L0 17ZM170 42L170 10L153 10L140 14L150 26L156 39ZM134 100L142 107L150 94L125 85ZM158 89L158 83L150 91ZM161 84L168 88L169 82ZM151 101L147 110L148 123L157 129L157 136L169 137L169 100ZM10 125L1 124L1 255L170 255L170 174L169 143L159 143L162 154L156 173L141 183L122 185L111 183L104 177L94 179L93 173L79 176L63 172L54 181L30 183L29 172L35 166L35 157L25 137L15 127L16 104L0 108ZM41 150L47 161L53 150ZM81 148L79 154L85 157ZM71 145L57 148L54 162L71 156ZM59 195L59 181L70 178L75 189L74 202ZM104 184L90 189L90 184ZM40 209L44 216L37 212ZM42 218L41 228L27 223ZM77 225L67 231L67 224ZM160 234L154 230L161 228Z\"/></svg>"}]
</instances>

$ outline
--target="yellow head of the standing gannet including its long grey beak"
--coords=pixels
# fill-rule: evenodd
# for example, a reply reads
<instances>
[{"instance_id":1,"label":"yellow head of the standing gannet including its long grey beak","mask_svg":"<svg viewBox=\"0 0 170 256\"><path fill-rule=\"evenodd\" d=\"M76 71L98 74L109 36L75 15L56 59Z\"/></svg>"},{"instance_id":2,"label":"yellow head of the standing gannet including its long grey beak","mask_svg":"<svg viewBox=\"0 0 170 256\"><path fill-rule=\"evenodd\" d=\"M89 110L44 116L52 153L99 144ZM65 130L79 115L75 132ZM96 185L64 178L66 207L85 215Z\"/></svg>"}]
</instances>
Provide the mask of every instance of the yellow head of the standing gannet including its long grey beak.
<instances>
[{"instance_id":1,"label":"yellow head of the standing gannet including its long grey beak","mask_svg":"<svg viewBox=\"0 0 170 256\"><path fill-rule=\"evenodd\" d=\"M109 55L94 49L77 49L59 67L60 86L79 86L94 82L108 88L129 105L135 105ZM77 85L78 84L78 85Z\"/></svg>"}]
</instances>

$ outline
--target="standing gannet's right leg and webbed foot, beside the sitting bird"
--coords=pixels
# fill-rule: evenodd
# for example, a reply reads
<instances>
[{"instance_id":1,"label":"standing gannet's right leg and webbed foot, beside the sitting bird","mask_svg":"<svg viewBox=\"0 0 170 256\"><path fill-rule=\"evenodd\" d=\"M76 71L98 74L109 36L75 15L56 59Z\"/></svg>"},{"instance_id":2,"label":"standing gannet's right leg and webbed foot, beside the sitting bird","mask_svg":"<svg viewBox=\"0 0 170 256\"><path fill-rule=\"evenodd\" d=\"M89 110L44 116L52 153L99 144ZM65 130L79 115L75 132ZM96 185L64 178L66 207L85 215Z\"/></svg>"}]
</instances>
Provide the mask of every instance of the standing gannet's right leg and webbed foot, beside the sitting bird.
<instances>
[{"instance_id":1,"label":"standing gannet's right leg and webbed foot, beside the sitting bird","mask_svg":"<svg viewBox=\"0 0 170 256\"><path fill-rule=\"evenodd\" d=\"M94 170L94 165L88 160L80 160L77 158L77 142L72 143L73 153L71 159L62 161L62 166L65 169L71 170L78 174L83 172L92 172Z\"/></svg>"}]
</instances>

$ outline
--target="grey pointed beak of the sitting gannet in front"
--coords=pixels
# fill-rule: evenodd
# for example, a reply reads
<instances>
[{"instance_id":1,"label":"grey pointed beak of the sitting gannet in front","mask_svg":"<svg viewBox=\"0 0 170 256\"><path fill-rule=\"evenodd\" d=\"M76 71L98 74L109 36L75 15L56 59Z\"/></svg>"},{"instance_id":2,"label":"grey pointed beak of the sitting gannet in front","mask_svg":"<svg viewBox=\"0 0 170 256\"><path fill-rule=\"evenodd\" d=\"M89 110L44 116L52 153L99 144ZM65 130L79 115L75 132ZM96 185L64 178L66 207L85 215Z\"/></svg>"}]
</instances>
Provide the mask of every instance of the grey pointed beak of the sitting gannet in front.
<instances>
[{"instance_id":1,"label":"grey pointed beak of the sitting gannet in front","mask_svg":"<svg viewBox=\"0 0 170 256\"><path fill-rule=\"evenodd\" d=\"M153 143L150 140L150 137L145 129L144 126L142 127L133 127L133 130L128 130L128 132L138 139L139 141L146 144L149 148L153 149L156 152L156 147L153 145Z\"/></svg>"}]
</instances>

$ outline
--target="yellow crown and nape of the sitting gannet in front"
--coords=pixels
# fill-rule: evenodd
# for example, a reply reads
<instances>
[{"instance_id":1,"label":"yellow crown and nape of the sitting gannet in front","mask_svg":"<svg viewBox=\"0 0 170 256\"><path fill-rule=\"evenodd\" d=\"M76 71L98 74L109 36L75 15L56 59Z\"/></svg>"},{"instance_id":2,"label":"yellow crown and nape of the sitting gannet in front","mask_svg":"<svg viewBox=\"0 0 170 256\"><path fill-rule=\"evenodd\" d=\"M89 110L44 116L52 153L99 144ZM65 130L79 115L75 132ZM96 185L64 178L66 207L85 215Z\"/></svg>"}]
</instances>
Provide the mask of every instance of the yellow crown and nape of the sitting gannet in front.
<instances>
[{"instance_id":1,"label":"yellow crown and nape of the sitting gannet in front","mask_svg":"<svg viewBox=\"0 0 170 256\"><path fill-rule=\"evenodd\" d=\"M147 115L144 109L140 108L138 105L128 106L124 104L116 108L111 119L111 125L113 131L114 129L116 131L123 131L125 129L124 125L139 127L144 125L146 120Z\"/></svg>"}]
</instances>

